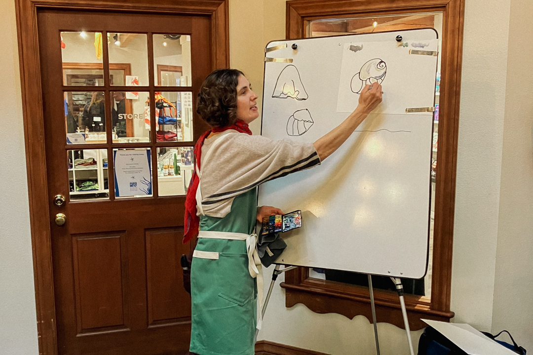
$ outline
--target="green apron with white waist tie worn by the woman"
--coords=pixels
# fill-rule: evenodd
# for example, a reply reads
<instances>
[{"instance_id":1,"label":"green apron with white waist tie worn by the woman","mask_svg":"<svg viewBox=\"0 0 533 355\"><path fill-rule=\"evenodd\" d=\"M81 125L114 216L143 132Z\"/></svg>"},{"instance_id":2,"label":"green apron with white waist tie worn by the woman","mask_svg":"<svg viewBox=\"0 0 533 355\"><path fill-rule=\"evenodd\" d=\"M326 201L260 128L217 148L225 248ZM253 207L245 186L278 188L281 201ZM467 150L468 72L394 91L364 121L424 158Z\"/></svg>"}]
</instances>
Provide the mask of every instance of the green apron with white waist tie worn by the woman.
<instances>
[{"instance_id":1,"label":"green apron with white waist tie worn by the woman","mask_svg":"<svg viewBox=\"0 0 533 355\"><path fill-rule=\"evenodd\" d=\"M224 218L200 216L200 231L250 235L256 211L257 193L252 189L235 197ZM189 350L199 355L253 355L257 286L248 269L246 241L202 237L195 253L207 256L194 257L191 265Z\"/></svg>"}]
</instances>

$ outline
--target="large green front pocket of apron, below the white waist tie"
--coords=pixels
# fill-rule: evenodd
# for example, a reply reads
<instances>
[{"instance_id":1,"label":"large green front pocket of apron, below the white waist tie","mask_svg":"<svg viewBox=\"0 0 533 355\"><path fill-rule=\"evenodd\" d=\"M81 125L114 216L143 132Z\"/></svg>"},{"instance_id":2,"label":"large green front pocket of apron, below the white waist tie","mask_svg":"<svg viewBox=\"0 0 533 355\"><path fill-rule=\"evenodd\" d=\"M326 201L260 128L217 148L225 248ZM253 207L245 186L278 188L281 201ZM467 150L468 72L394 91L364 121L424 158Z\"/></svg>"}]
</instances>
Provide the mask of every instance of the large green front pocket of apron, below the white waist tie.
<instances>
[{"instance_id":1,"label":"large green front pocket of apron, below the white waist tie","mask_svg":"<svg viewBox=\"0 0 533 355\"><path fill-rule=\"evenodd\" d=\"M244 306L255 295L254 278L248 271L248 255L220 253L219 296L227 301Z\"/></svg>"}]
</instances>

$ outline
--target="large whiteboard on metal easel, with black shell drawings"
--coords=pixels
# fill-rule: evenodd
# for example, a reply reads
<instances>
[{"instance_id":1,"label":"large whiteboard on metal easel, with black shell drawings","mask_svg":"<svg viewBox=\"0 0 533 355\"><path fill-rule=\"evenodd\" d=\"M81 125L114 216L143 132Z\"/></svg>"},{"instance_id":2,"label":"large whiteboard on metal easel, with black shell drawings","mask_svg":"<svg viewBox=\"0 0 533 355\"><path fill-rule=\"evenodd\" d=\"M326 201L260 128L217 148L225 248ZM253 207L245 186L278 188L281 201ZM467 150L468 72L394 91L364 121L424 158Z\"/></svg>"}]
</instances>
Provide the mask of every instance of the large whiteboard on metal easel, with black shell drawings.
<instances>
[{"instance_id":1,"label":"large whiteboard on metal easel, with black shell drawings","mask_svg":"<svg viewBox=\"0 0 533 355\"><path fill-rule=\"evenodd\" d=\"M437 56L409 50L438 51L437 32L283 40L267 47L281 44L287 48L266 57L293 62L265 62L266 137L314 142L356 108L361 85L381 82L384 94L379 108L320 166L259 187L259 205L302 210L303 227L282 234L287 249L276 262L424 277L433 113L406 109L434 106Z\"/></svg>"}]
</instances>

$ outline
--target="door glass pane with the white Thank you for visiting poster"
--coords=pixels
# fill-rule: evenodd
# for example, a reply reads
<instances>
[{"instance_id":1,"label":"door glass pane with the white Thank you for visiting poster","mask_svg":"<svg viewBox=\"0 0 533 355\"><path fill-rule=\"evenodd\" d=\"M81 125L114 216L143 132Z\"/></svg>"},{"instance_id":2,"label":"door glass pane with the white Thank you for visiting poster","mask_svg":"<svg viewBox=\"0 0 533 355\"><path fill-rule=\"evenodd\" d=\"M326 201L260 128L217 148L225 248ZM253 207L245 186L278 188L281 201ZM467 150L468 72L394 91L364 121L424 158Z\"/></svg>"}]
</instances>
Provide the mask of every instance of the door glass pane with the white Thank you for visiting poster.
<instances>
[{"instance_id":1,"label":"door glass pane with the white Thank you for visiting poster","mask_svg":"<svg viewBox=\"0 0 533 355\"><path fill-rule=\"evenodd\" d=\"M115 196L152 196L152 161L150 148L115 149Z\"/></svg>"}]
</instances>

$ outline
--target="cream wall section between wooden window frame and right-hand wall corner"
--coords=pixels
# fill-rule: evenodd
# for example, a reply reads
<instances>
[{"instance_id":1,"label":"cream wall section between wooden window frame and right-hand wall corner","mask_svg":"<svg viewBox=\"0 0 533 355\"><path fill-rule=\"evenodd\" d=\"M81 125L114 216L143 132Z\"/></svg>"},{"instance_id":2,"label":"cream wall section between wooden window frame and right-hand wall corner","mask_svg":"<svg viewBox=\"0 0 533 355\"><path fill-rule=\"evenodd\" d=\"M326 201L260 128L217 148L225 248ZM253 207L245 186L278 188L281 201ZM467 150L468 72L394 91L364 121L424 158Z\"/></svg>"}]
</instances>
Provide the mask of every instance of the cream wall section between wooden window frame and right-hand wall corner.
<instances>
[{"instance_id":1,"label":"cream wall section between wooden window frame and right-hand wall corner","mask_svg":"<svg viewBox=\"0 0 533 355\"><path fill-rule=\"evenodd\" d=\"M451 310L483 331L492 323L510 3L465 6Z\"/></svg>"}]
</instances>

